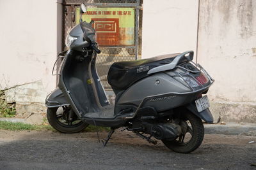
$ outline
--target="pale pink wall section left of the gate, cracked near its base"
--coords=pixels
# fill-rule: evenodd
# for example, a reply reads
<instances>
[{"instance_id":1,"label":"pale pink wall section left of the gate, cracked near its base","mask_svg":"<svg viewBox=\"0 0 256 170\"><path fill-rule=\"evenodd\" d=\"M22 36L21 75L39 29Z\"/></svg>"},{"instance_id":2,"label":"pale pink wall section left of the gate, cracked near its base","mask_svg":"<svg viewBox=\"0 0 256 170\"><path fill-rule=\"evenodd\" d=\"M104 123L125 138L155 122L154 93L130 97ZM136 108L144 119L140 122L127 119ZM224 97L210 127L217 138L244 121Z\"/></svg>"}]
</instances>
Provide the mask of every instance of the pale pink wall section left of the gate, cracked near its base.
<instances>
[{"instance_id":1,"label":"pale pink wall section left of the gate, cracked near its base","mask_svg":"<svg viewBox=\"0 0 256 170\"><path fill-rule=\"evenodd\" d=\"M21 117L40 110L45 113L45 96L56 86L51 75L61 50L57 46L61 4L56 1L0 1L0 89L10 89L5 90L7 101L16 102ZM42 107L37 108L38 104ZM28 106L34 109L26 112Z\"/></svg>"}]
</instances>

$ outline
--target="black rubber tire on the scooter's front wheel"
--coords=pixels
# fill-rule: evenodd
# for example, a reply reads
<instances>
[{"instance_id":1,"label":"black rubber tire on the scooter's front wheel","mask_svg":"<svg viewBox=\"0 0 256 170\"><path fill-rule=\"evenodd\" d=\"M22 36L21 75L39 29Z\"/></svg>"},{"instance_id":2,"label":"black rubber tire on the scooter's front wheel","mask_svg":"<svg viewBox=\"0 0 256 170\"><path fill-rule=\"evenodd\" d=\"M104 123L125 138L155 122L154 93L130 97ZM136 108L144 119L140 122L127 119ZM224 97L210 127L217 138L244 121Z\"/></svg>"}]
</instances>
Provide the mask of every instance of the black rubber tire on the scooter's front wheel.
<instances>
[{"instance_id":1,"label":"black rubber tire on the scooter's front wheel","mask_svg":"<svg viewBox=\"0 0 256 170\"><path fill-rule=\"evenodd\" d=\"M85 122L78 122L77 124L74 125L66 125L60 122L57 117L57 110L58 108L48 108L47 109L47 120L49 124L56 129L59 132L63 133L76 133L83 131L86 127L88 127L88 124Z\"/></svg>"}]
</instances>

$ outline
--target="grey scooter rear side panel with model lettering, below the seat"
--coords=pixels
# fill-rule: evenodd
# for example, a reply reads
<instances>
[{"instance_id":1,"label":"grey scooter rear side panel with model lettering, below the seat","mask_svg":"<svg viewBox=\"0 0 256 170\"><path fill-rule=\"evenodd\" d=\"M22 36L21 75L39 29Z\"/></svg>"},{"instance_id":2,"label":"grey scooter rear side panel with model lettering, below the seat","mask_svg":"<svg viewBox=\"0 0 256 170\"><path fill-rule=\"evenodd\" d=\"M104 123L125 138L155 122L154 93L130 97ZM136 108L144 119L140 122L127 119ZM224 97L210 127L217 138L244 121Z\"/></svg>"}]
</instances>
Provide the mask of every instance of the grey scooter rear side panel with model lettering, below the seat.
<instances>
[{"instance_id":1,"label":"grey scooter rear side panel with model lettering, below the seat","mask_svg":"<svg viewBox=\"0 0 256 170\"><path fill-rule=\"evenodd\" d=\"M184 86L179 81L165 73L157 73L148 76L143 80L134 83L129 89L125 90L122 97L117 101L117 104L133 104L139 106L141 101L148 96L156 96L166 93L184 93L190 92L188 87ZM170 108L175 108L188 101L188 96L172 96L163 99L152 99L145 106L152 106L157 111L163 111Z\"/></svg>"}]
</instances>

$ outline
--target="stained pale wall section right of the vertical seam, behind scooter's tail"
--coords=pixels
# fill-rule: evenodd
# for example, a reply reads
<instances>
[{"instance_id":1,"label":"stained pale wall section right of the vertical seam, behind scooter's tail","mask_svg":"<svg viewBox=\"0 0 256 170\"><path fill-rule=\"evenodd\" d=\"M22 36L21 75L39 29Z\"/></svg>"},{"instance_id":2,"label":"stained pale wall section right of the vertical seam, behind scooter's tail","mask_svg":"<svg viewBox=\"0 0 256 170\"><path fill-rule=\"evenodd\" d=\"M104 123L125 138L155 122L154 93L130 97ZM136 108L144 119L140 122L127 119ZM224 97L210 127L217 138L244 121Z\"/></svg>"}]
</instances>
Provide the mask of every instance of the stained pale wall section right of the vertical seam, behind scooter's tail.
<instances>
[{"instance_id":1,"label":"stained pale wall section right of the vertical seam, behind scooter's tail","mask_svg":"<svg viewBox=\"0 0 256 170\"><path fill-rule=\"evenodd\" d=\"M215 117L256 121L256 1L200 1L198 62L216 82Z\"/></svg>"}]
</instances>

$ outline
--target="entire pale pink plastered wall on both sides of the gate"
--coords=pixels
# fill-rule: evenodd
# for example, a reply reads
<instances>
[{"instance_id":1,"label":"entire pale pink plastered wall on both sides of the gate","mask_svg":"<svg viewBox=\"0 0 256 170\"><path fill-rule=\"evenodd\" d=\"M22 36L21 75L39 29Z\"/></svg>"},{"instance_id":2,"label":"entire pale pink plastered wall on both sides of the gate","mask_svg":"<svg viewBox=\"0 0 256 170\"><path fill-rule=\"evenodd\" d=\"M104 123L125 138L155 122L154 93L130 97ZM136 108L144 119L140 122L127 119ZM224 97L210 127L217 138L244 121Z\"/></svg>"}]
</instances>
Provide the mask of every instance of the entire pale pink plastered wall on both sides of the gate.
<instances>
[{"instance_id":1,"label":"entire pale pink plastered wall on both sides of the gate","mask_svg":"<svg viewBox=\"0 0 256 170\"><path fill-rule=\"evenodd\" d=\"M0 1L0 89L31 122L56 86L60 1ZM196 51L197 21L198 0L144 1L142 58ZM208 94L214 118L255 122L256 1L201 0L198 38L198 62L216 80Z\"/></svg>"}]
</instances>

